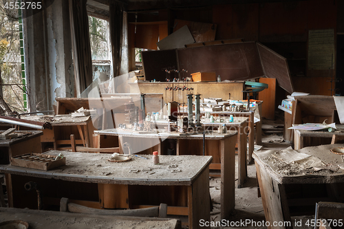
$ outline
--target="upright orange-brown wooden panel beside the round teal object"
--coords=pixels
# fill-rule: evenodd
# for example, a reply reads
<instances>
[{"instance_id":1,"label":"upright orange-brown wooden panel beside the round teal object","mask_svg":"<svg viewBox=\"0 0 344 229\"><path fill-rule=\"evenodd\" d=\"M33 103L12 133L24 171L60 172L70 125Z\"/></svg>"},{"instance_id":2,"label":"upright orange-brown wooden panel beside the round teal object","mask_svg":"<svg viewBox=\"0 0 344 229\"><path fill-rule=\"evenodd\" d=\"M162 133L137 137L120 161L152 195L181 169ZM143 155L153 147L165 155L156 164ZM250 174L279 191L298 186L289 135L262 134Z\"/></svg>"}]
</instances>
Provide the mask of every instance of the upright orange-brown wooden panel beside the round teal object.
<instances>
[{"instance_id":1,"label":"upright orange-brown wooden panel beside the round teal object","mask_svg":"<svg viewBox=\"0 0 344 229\"><path fill-rule=\"evenodd\" d=\"M268 88L258 93L258 100L264 101L261 105L261 118L275 120L276 78L259 78L259 83L268 85Z\"/></svg>"}]
</instances>

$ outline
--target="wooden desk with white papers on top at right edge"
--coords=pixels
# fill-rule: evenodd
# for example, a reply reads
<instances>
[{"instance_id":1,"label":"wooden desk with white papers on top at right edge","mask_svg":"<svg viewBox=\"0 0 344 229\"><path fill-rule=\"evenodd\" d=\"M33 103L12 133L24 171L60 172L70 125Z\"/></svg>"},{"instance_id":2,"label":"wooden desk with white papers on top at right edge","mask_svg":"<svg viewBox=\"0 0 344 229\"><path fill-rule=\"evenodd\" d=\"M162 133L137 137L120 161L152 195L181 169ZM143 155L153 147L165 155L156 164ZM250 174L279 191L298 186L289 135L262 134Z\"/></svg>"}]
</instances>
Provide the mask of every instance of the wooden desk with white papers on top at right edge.
<instances>
[{"instance_id":1,"label":"wooden desk with white papers on top at right edge","mask_svg":"<svg viewBox=\"0 0 344 229\"><path fill-rule=\"evenodd\" d=\"M294 129L294 149L302 149L305 146L319 146L330 144L333 135L344 136L344 132L334 131L304 131Z\"/></svg>"}]
</instances>

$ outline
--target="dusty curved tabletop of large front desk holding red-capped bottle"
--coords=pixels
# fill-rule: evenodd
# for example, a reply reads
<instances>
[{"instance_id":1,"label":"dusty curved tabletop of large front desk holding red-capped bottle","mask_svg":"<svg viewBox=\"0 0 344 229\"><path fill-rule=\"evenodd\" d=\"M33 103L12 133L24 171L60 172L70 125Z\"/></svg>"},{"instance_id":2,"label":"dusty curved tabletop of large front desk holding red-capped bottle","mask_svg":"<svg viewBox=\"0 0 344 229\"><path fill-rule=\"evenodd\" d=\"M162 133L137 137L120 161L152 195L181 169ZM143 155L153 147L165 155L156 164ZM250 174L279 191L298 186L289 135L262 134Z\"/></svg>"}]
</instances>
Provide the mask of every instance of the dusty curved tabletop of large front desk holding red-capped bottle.
<instances>
[{"instance_id":1,"label":"dusty curved tabletop of large front desk holding red-capped bottle","mask_svg":"<svg viewBox=\"0 0 344 229\"><path fill-rule=\"evenodd\" d=\"M63 179L74 182L133 185L191 185L211 164L213 157L197 155L159 155L160 164L131 155L127 162L107 161L111 154L47 151L47 155L63 153L66 165L50 171L19 166L0 166L1 173Z\"/></svg>"}]
</instances>

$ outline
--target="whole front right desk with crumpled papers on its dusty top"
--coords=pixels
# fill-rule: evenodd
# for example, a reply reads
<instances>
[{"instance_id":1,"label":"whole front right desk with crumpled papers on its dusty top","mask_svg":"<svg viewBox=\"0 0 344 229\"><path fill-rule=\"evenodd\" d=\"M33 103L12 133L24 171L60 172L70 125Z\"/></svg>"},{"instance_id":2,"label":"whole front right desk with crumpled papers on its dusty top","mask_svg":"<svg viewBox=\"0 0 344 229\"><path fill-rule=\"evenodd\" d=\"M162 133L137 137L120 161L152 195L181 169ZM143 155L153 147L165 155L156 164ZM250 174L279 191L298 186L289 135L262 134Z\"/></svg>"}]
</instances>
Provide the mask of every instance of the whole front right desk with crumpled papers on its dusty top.
<instances>
[{"instance_id":1,"label":"whole front right desk with crumpled papers on its dusty top","mask_svg":"<svg viewBox=\"0 0 344 229\"><path fill-rule=\"evenodd\" d=\"M338 146L342 145L327 144L305 147L297 151L313 156L308 163L321 160L325 167L320 171L315 171L309 164L304 166L298 162L287 164L277 159L276 155L292 149L285 149L282 152L253 153L265 218L271 224L268 228L293 228L295 225L291 217L314 215L316 203L319 201L343 203L344 197L341 195L344 188L343 157L330 151ZM273 226L273 222L291 222L291 225Z\"/></svg>"}]
</instances>

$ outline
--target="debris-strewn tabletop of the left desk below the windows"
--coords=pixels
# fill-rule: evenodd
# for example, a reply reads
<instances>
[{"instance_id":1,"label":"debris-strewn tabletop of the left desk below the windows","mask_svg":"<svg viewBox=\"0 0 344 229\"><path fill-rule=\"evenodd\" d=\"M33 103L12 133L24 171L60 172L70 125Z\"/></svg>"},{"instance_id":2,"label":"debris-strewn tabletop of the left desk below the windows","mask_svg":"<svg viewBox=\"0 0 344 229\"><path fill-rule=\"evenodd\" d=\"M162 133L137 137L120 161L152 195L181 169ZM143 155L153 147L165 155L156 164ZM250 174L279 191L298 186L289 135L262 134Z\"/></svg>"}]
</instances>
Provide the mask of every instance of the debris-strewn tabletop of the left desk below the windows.
<instances>
[{"instance_id":1,"label":"debris-strewn tabletop of the left desk below the windows","mask_svg":"<svg viewBox=\"0 0 344 229\"><path fill-rule=\"evenodd\" d=\"M36 121L36 122L50 122L53 126L66 123L80 123L87 122L91 116L85 117L72 117L71 114L65 115L46 115L46 116L22 116L24 120Z\"/></svg>"}]
</instances>

